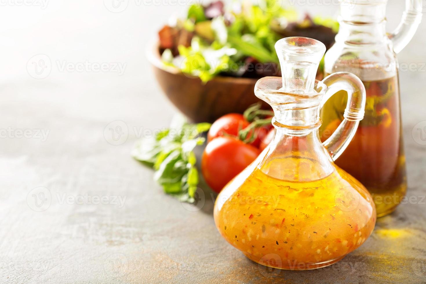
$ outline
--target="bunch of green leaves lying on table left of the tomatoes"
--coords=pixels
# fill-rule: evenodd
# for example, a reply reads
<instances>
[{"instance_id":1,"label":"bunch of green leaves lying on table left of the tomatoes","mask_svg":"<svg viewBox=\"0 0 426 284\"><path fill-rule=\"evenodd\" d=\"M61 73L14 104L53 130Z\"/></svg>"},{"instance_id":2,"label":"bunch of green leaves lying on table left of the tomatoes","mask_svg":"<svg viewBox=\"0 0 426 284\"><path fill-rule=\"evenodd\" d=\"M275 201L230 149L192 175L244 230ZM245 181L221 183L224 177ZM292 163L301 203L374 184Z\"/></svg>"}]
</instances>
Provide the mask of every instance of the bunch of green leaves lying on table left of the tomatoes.
<instances>
[{"instance_id":1,"label":"bunch of green leaves lying on table left of the tomatoes","mask_svg":"<svg viewBox=\"0 0 426 284\"><path fill-rule=\"evenodd\" d=\"M170 128L136 143L132 157L155 170L154 180L164 192L192 203L199 181L193 150L204 143L200 134L208 129L210 123L190 124L177 117Z\"/></svg>"}]
</instances>

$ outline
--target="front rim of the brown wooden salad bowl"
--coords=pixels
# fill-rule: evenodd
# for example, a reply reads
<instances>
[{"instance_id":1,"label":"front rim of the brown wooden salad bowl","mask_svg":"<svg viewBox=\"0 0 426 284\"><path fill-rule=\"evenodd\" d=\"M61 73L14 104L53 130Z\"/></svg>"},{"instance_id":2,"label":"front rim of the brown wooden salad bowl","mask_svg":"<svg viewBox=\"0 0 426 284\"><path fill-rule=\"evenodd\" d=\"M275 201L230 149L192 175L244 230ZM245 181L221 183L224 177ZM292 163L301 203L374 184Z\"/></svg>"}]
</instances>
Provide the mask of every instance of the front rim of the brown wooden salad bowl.
<instances>
[{"instance_id":1,"label":"front rim of the brown wooden salad bowl","mask_svg":"<svg viewBox=\"0 0 426 284\"><path fill-rule=\"evenodd\" d=\"M194 78L194 79L199 79L198 77L194 77L188 74L183 74L179 69L172 67L172 66L166 66L163 64L163 62L161 61L161 56L160 56L160 52L159 52L159 41L152 39L147 43L147 47L146 47L146 56L148 61L155 66L158 69L161 69L165 72L174 74L174 75L180 75L180 76L184 76L187 78ZM259 79L253 79L253 78L239 78L239 77L229 77L229 76L216 76L213 77L213 79L211 79L209 82L235 82L235 83L240 83L240 84L251 84L254 85L256 84L257 80Z\"/></svg>"}]
</instances>

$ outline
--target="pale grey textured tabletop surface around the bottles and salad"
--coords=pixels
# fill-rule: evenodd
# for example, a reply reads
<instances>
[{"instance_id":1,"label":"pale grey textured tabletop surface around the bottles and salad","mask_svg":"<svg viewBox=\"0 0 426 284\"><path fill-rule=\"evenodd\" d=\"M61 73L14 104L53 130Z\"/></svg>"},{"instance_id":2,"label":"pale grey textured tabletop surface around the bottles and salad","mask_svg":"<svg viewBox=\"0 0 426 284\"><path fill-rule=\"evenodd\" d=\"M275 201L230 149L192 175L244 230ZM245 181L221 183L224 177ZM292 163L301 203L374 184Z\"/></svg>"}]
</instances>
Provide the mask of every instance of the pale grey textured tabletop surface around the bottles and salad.
<instances>
[{"instance_id":1,"label":"pale grey textured tabletop surface around the bottles and salad","mask_svg":"<svg viewBox=\"0 0 426 284\"><path fill-rule=\"evenodd\" d=\"M176 112L144 45L184 6L130 0L112 13L102 1L3 3L0 283L426 283L426 132L414 128L426 120L424 67L400 73L409 196L417 201L379 219L371 238L331 267L271 272L219 236L208 189L193 210L130 158L141 133L167 126ZM389 18L399 20L402 4L389 5ZM400 62L425 63L425 26Z\"/></svg>"}]
</instances>

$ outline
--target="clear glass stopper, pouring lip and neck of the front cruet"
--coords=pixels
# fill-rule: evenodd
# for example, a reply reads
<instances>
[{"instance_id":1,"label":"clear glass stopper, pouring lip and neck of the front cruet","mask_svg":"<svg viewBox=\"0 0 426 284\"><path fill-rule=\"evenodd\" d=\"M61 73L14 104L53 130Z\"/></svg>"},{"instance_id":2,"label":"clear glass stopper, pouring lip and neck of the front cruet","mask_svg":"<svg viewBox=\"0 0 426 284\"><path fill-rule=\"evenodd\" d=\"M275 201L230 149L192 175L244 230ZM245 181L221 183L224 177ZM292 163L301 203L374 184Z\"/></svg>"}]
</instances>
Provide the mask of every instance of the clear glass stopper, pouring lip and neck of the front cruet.
<instances>
[{"instance_id":1,"label":"clear glass stopper, pouring lip and neck of the front cruet","mask_svg":"<svg viewBox=\"0 0 426 284\"><path fill-rule=\"evenodd\" d=\"M264 77L257 81L254 92L272 107L277 127L305 135L319 127L320 104L327 87L315 77L325 45L308 37L286 37L275 43L275 49L282 78Z\"/></svg>"}]
</instances>

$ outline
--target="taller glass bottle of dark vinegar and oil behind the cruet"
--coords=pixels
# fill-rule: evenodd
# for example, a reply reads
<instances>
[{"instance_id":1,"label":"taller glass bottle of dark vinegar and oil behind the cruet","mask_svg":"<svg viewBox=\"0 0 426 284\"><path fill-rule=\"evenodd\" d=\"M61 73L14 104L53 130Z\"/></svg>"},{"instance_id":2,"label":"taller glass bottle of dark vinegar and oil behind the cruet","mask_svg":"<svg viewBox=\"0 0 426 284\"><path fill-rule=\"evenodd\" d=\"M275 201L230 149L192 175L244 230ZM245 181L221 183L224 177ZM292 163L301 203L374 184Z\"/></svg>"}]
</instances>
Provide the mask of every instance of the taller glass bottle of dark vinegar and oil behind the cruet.
<instances>
[{"instance_id":1,"label":"taller glass bottle of dark vinegar and oil behind the cruet","mask_svg":"<svg viewBox=\"0 0 426 284\"><path fill-rule=\"evenodd\" d=\"M395 53L409 43L420 23L420 2L406 0L401 23L388 35L387 0L341 0L340 29L324 58L325 75L351 72L366 88L364 119L336 164L370 191L378 217L392 212L407 189ZM322 108L322 141L343 120L346 101L345 92L338 92Z\"/></svg>"}]
</instances>

